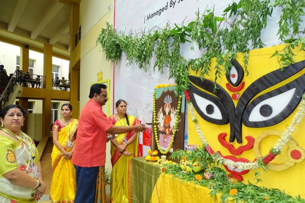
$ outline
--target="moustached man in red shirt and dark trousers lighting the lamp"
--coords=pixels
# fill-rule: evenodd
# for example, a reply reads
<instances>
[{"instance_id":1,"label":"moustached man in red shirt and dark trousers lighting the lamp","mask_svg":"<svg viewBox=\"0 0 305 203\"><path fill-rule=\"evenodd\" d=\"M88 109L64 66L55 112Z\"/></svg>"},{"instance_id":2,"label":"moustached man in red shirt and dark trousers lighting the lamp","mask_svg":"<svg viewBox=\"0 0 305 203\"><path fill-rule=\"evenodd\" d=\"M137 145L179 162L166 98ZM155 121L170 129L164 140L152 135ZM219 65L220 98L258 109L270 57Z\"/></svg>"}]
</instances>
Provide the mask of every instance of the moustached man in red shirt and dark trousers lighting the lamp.
<instances>
[{"instance_id":1,"label":"moustached man in red shirt and dark trousers lighting the lamp","mask_svg":"<svg viewBox=\"0 0 305 203\"><path fill-rule=\"evenodd\" d=\"M76 170L76 194L74 203L94 203L98 174L102 174L101 194L97 196L106 202L105 159L107 133L121 134L144 131L144 124L114 126L102 111L108 101L107 86L94 84L90 88L90 100L84 105L79 117L75 150L72 163ZM112 136L113 138L113 136ZM123 151L120 150L120 153Z\"/></svg>"}]
</instances>

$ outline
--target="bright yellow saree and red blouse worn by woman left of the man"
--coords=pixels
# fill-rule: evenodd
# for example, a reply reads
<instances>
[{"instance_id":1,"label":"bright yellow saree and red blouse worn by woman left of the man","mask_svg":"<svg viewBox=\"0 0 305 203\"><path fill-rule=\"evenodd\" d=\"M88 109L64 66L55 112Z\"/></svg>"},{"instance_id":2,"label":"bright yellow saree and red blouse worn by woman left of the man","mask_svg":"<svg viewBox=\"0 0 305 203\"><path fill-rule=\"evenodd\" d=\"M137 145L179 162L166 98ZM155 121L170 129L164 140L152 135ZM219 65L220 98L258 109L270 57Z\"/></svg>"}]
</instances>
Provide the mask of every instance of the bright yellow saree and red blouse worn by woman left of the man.
<instances>
[{"instance_id":1,"label":"bright yellow saree and red blouse worn by woman left of the man","mask_svg":"<svg viewBox=\"0 0 305 203\"><path fill-rule=\"evenodd\" d=\"M78 120L71 122L70 134L67 128L63 126L59 120L53 124L52 131L58 131L58 141L63 148L70 152L74 147L76 140ZM70 143L70 146L69 145ZM70 159L65 159L63 154L54 145L52 154L52 183L50 188L50 199L52 203L73 203L76 191L75 169Z\"/></svg>"}]
</instances>

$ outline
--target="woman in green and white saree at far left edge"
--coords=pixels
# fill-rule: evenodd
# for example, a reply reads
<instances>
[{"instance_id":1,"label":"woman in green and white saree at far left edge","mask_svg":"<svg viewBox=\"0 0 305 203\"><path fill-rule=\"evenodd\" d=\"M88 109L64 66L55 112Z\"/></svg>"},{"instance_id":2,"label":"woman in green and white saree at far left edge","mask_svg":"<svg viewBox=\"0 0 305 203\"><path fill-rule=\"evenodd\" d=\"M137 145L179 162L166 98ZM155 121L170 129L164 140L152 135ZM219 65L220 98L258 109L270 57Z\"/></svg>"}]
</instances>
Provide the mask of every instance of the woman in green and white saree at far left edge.
<instances>
[{"instance_id":1,"label":"woman in green and white saree at far left edge","mask_svg":"<svg viewBox=\"0 0 305 203\"><path fill-rule=\"evenodd\" d=\"M26 111L8 105L0 112L0 202L34 203L45 193L34 141L20 128Z\"/></svg>"}]
</instances>

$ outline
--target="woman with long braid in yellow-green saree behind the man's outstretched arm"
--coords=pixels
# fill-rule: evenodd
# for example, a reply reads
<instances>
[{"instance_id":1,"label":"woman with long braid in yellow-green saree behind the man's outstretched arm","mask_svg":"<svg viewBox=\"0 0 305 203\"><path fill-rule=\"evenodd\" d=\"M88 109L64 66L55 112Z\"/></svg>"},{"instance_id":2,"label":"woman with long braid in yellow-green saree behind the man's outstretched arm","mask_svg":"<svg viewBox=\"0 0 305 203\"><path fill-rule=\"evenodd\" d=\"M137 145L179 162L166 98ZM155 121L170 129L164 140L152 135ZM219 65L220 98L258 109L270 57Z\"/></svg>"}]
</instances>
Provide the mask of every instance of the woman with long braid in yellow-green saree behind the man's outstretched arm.
<instances>
[{"instance_id":1,"label":"woman with long braid in yellow-green saree behind the man's outstretched arm","mask_svg":"<svg viewBox=\"0 0 305 203\"><path fill-rule=\"evenodd\" d=\"M135 116L127 115L127 103L120 99L116 103L117 114L109 117L115 126L134 126L141 123ZM111 141L111 185L110 196L113 203L128 202L128 162L140 156L138 148L138 132L132 131L118 134ZM120 151L122 153L120 153Z\"/></svg>"}]
</instances>

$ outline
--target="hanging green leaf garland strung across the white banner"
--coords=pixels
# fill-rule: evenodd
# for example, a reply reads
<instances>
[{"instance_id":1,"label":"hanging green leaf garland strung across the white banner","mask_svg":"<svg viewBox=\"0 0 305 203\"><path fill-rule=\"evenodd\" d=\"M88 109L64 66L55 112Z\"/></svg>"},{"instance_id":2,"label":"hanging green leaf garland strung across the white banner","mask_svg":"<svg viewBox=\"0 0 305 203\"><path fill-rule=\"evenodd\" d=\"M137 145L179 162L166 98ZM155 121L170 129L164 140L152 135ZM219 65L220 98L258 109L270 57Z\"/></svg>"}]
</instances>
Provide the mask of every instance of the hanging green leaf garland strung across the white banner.
<instances>
[{"instance_id":1,"label":"hanging green leaf garland strung across the white banner","mask_svg":"<svg viewBox=\"0 0 305 203\"><path fill-rule=\"evenodd\" d=\"M214 91L217 90L217 78L229 74L232 67L231 60L237 53L242 52L243 65L248 74L248 51L250 47L262 48L261 31L267 26L267 18L272 15L273 8L282 7L279 21L279 38L289 43L282 51L277 51L281 65L290 65L293 61L292 49L301 44L305 47L304 38L298 37L301 16L304 15L304 0L240 0L233 2L224 9L221 16L214 16L214 10L206 9L202 15L196 12L196 19L188 25L182 23L181 27L174 24L173 28L167 24L164 28L155 27L147 33L128 34L117 33L107 23L103 28L96 43L101 44L106 52L106 59L112 62L120 60L121 52L126 52L127 65L135 62L139 68L147 71L149 60L156 47L156 62L153 71L163 73L163 67L169 67L169 78L174 78L177 92L180 94L189 85L189 70L199 73L200 78L209 75L212 69L214 74ZM231 22L228 22L230 18ZM220 28L225 23L225 28ZM290 36L286 40L286 37ZM201 57L186 60L180 55L181 44L195 42L199 49L205 50ZM168 50L170 48L170 51ZM192 47L193 49L193 47ZM215 66L211 67L211 59L216 59Z\"/></svg>"}]
</instances>

